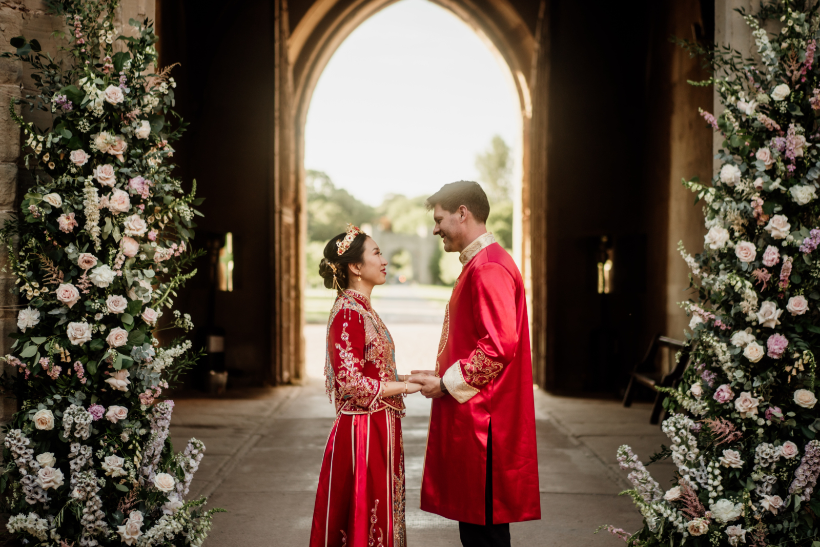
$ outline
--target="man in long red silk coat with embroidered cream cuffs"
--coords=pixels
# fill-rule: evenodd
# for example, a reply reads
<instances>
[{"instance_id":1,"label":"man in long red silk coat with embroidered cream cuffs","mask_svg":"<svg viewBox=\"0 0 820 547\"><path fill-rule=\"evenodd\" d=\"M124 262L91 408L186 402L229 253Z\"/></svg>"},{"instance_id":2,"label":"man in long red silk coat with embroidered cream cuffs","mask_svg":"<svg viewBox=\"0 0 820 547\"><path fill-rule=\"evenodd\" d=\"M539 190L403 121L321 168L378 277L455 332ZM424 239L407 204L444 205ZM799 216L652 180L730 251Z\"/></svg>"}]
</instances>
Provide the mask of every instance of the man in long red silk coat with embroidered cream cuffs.
<instances>
[{"instance_id":1,"label":"man in long red silk coat with embroidered cream cuffs","mask_svg":"<svg viewBox=\"0 0 820 547\"><path fill-rule=\"evenodd\" d=\"M444 185L426 201L462 272L435 371L409 381L435 399L421 509L458 521L464 547L510 545L510 522L541 517L529 322L521 273L485 222L481 186Z\"/></svg>"}]
</instances>

